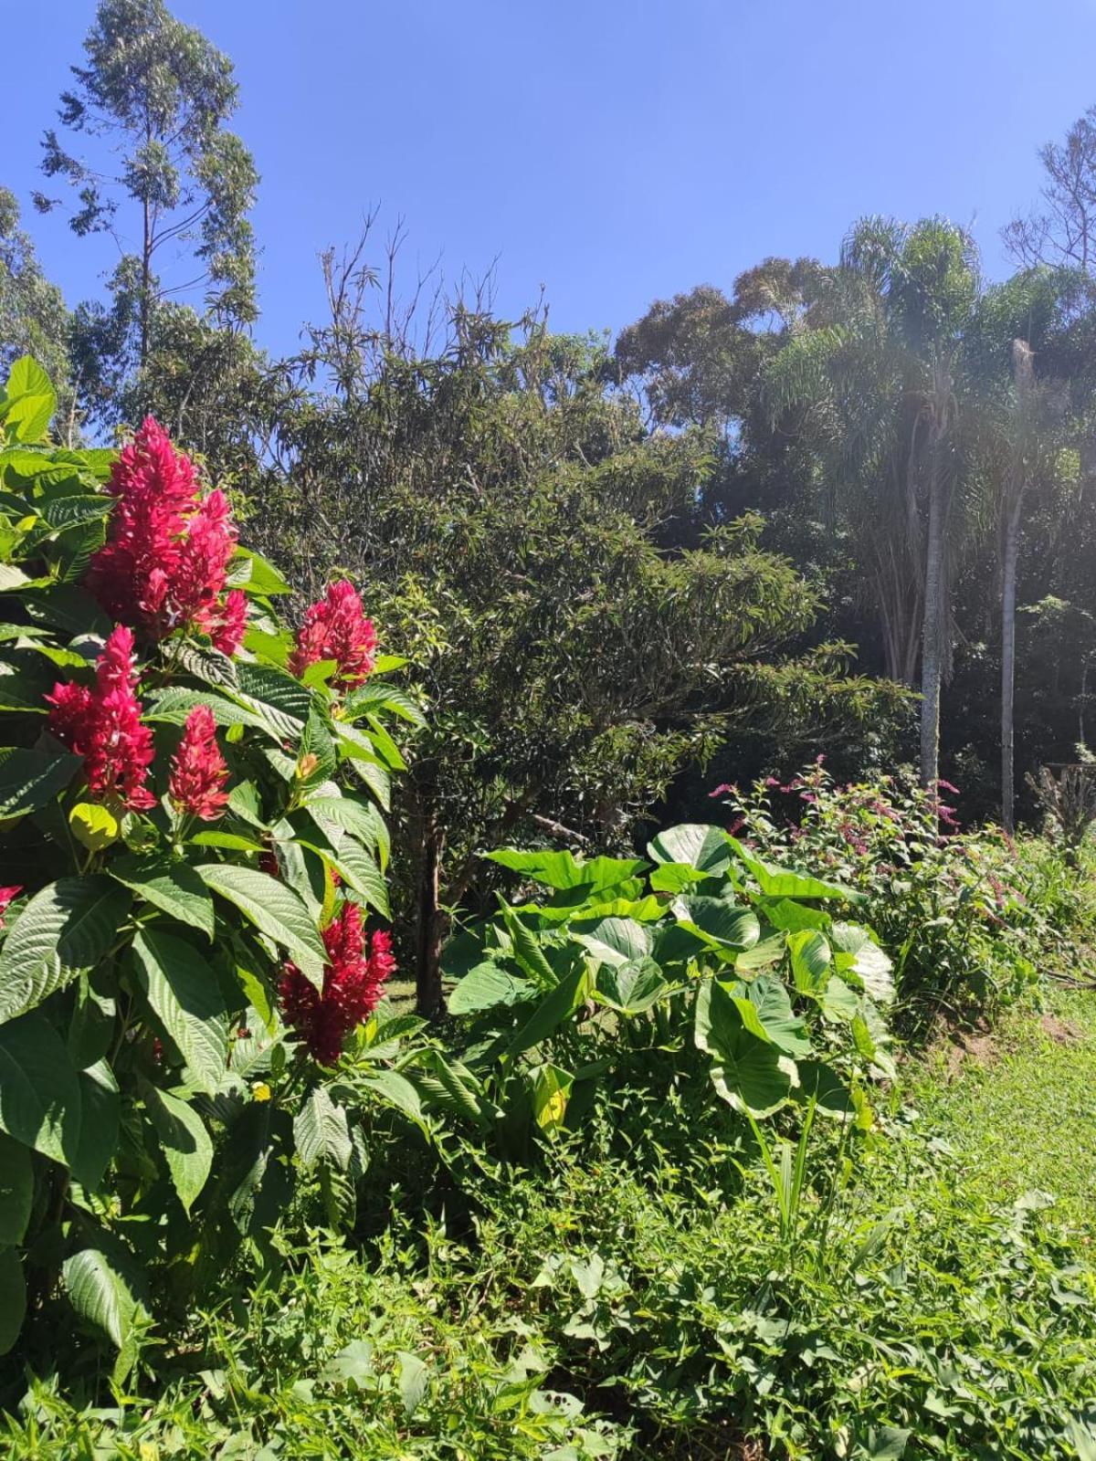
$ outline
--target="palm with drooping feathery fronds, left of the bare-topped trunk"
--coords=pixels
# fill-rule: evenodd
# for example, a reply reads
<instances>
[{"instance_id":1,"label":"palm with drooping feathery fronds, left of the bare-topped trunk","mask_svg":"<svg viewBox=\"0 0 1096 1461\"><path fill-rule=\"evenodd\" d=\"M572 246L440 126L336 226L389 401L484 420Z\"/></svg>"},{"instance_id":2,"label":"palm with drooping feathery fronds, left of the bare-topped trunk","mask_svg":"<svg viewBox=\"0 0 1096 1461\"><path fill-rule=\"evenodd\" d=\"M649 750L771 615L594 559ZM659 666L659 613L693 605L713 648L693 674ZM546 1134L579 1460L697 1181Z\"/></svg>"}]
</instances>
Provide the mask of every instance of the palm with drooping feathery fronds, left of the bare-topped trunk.
<instances>
[{"instance_id":1,"label":"palm with drooping feathery fronds, left of the bare-topped trunk","mask_svg":"<svg viewBox=\"0 0 1096 1461\"><path fill-rule=\"evenodd\" d=\"M862 219L764 380L772 419L792 418L818 449L831 513L858 545L880 615L888 675L919 684L925 785L938 779L951 665L978 291L963 229Z\"/></svg>"}]
</instances>

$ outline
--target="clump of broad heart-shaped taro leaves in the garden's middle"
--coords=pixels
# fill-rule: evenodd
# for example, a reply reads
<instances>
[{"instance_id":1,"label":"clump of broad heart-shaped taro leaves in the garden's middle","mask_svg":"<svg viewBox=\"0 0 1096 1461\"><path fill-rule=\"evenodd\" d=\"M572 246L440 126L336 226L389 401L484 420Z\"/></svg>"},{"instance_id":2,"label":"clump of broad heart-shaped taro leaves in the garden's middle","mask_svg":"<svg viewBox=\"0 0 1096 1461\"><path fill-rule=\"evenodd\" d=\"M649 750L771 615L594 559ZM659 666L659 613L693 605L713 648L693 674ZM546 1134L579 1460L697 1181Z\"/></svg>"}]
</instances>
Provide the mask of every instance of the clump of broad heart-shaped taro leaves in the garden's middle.
<instances>
[{"instance_id":1,"label":"clump of broad heart-shaped taro leaves in the garden's middle","mask_svg":"<svg viewBox=\"0 0 1096 1461\"><path fill-rule=\"evenodd\" d=\"M776 866L719 827L680 825L650 862L491 853L539 897L453 942L450 1014L471 1043L450 1074L504 1150L577 1129L630 1052L706 1058L754 1125L802 1105L871 1125L867 1083L891 1074L891 966L848 919L861 894ZM757 1128L756 1128L757 1129Z\"/></svg>"}]
</instances>

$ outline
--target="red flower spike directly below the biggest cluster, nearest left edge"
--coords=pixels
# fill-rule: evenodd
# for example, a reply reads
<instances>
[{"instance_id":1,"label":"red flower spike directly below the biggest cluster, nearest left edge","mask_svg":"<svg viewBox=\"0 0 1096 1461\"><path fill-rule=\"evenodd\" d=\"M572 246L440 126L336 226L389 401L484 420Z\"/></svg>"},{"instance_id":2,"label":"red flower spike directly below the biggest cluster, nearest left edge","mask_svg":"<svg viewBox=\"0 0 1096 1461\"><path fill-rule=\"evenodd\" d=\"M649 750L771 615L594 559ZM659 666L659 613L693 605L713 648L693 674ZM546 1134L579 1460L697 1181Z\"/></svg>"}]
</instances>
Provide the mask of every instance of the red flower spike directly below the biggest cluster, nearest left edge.
<instances>
[{"instance_id":1,"label":"red flower spike directly below the biggest cluster, nearest left edge","mask_svg":"<svg viewBox=\"0 0 1096 1461\"><path fill-rule=\"evenodd\" d=\"M83 757L88 790L127 811L148 811L156 798L146 787L155 757L152 730L140 723L133 666L133 634L118 624L95 666L95 688L58 684L47 701L50 729Z\"/></svg>"}]
</instances>

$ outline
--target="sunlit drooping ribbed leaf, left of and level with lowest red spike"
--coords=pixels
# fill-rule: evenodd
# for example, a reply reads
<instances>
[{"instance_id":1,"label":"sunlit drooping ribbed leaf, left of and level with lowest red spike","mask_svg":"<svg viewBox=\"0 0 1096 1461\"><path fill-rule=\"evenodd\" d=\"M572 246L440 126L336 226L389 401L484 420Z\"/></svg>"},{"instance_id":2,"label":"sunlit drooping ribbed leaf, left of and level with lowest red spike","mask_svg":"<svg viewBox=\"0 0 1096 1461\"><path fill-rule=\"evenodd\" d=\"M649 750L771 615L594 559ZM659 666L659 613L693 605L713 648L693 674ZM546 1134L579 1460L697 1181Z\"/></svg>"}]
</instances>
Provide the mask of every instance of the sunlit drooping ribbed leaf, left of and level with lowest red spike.
<instances>
[{"instance_id":1,"label":"sunlit drooping ribbed leaf, left of and level with lowest red spike","mask_svg":"<svg viewBox=\"0 0 1096 1461\"><path fill-rule=\"evenodd\" d=\"M137 934L133 957L140 988L187 1062L191 1083L215 1094L228 1064L225 1005L216 974L190 944L158 929Z\"/></svg>"}]
</instances>

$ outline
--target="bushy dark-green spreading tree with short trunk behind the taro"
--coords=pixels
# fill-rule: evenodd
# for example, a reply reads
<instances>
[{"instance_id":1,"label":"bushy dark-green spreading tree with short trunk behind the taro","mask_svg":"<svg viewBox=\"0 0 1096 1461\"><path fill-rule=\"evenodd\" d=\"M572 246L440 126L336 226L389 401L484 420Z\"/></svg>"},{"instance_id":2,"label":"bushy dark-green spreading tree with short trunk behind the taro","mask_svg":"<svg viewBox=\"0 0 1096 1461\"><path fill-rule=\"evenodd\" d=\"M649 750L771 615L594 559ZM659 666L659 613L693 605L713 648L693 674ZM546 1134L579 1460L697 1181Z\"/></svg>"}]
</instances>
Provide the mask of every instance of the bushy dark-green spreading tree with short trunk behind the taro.
<instances>
[{"instance_id":1,"label":"bushy dark-green spreading tree with short trunk behind the taro","mask_svg":"<svg viewBox=\"0 0 1096 1461\"><path fill-rule=\"evenodd\" d=\"M845 685L872 716L887 691L785 653L817 599L760 551L757 520L677 546L697 536L706 443L646 435L606 393L599 342L456 304L421 356L355 308L314 332L317 384L282 413L292 468L267 478L263 526L302 590L332 565L359 579L428 707L396 809L434 1012L478 853L514 836L628 846L732 722L817 726L808 707Z\"/></svg>"}]
</instances>

